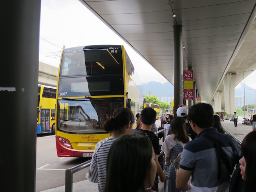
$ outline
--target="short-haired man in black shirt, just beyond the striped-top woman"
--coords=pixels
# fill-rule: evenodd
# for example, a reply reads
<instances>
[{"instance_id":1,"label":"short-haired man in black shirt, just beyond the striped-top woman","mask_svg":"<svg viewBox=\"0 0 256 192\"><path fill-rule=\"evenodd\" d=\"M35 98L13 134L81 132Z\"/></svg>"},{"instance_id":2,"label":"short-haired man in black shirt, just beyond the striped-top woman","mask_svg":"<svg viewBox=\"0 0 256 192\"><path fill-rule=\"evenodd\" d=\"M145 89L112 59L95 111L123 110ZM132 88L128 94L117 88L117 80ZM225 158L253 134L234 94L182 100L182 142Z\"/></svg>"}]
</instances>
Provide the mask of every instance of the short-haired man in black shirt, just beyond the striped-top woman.
<instances>
[{"instance_id":1,"label":"short-haired man in black shirt, just beyond the striped-top woman","mask_svg":"<svg viewBox=\"0 0 256 192\"><path fill-rule=\"evenodd\" d=\"M160 177L160 180L162 182L167 181L166 175L163 173L162 167L158 161L158 155L160 154L160 147L159 147L159 140L158 137L151 132L152 125L155 123L155 118L156 118L156 112L153 108L151 107L146 107L141 111L141 122L142 126L139 130L143 131L146 133L148 139L152 142L154 151L155 151L155 162L157 165L157 175ZM156 177L157 179L157 177ZM158 179L155 182L157 185ZM158 191L158 186L156 187L155 185L153 186L152 190Z\"/></svg>"}]
</instances>

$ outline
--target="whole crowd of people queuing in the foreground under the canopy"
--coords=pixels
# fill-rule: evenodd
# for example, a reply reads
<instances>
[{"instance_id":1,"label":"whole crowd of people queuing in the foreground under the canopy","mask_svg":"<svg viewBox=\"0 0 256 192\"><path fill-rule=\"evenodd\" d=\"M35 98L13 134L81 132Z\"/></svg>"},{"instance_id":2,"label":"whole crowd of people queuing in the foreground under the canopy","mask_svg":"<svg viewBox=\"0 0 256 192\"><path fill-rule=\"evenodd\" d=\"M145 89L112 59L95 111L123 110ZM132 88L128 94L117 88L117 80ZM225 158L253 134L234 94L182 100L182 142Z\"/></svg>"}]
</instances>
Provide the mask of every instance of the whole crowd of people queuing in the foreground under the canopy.
<instances>
[{"instance_id":1,"label":"whole crowd of people queuing in the foreground under the canopy","mask_svg":"<svg viewBox=\"0 0 256 192\"><path fill-rule=\"evenodd\" d=\"M176 117L160 118L159 129L168 130L160 146L160 137L154 134L155 110L146 107L136 118L129 108L119 108L104 123L111 136L95 146L86 174L89 181L98 183L99 192L158 192L158 178L167 183L168 192L256 191L256 131L246 135L240 149L225 134L223 118L214 115L212 106L197 103L189 110L178 108ZM256 115L252 119L256 130ZM160 148L168 176L158 161Z\"/></svg>"}]
</instances>

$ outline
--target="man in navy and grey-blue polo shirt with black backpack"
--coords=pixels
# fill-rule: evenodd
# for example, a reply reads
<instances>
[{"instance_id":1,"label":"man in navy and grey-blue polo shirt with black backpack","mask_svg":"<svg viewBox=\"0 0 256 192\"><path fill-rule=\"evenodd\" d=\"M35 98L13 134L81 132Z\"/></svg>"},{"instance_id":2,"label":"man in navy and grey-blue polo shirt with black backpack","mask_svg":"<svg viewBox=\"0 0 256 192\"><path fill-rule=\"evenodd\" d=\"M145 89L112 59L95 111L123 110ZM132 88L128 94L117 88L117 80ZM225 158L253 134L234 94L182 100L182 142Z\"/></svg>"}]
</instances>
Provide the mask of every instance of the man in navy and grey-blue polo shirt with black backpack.
<instances>
[{"instance_id":1,"label":"man in navy and grey-blue polo shirt with black backpack","mask_svg":"<svg viewBox=\"0 0 256 192\"><path fill-rule=\"evenodd\" d=\"M228 192L230 170L241 154L237 143L229 135L218 133L216 128L212 128L214 119L210 104L198 103L191 106L188 122L198 135L183 149L176 187L181 191L190 189L190 192ZM218 158L217 143L227 154L228 165L223 163L224 158Z\"/></svg>"}]
</instances>

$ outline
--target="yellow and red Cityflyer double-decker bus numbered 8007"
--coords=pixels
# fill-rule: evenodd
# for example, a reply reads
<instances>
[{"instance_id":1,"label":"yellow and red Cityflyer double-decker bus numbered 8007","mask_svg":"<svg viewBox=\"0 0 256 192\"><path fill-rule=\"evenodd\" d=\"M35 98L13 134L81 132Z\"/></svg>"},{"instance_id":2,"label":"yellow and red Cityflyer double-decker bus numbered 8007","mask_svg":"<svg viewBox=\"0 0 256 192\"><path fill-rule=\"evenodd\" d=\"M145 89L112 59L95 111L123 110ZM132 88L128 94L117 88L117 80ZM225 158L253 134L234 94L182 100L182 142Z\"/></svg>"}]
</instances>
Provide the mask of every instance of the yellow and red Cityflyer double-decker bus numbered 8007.
<instances>
[{"instance_id":1,"label":"yellow and red Cityflyer double-decker bus numbered 8007","mask_svg":"<svg viewBox=\"0 0 256 192\"><path fill-rule=\"evenodd\" d=\"M142 104L142 82L124 46L64 49L57 80L57 155L92 156L96 143L110 135L102 126L113 111L128 107L135 116Z\"/></svg>"}]
</instances>

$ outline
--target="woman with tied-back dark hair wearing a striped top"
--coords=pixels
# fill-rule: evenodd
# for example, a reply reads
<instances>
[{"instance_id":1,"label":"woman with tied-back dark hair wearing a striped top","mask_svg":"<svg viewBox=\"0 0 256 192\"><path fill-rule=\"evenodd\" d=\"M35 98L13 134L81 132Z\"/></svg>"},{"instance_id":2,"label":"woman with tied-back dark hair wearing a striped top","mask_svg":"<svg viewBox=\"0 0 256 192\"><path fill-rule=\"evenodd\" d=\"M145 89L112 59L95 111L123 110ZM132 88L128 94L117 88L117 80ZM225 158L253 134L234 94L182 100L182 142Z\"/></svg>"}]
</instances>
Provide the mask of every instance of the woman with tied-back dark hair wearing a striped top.
<instances>
[{"instance_id":1,"label":"woman with tied-back dark hair wearing a striped top","mask_svg":"<svg viewBox=\"0 0 256 192\"><path fill-rule=\"evenodd\" d=\"M133 123L134 116L129 108L117 108L103 125L103 129L110 132L110 137L96 144L90 169L86 174L89 181L98 183L99 192L103 192L106 185L106 162L110 147L115 139L131 132Z\"/></svg>"}]
</instances>

